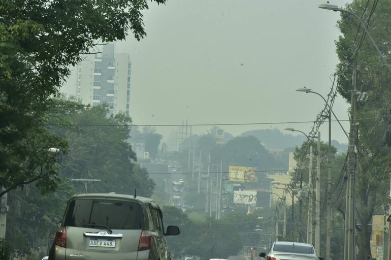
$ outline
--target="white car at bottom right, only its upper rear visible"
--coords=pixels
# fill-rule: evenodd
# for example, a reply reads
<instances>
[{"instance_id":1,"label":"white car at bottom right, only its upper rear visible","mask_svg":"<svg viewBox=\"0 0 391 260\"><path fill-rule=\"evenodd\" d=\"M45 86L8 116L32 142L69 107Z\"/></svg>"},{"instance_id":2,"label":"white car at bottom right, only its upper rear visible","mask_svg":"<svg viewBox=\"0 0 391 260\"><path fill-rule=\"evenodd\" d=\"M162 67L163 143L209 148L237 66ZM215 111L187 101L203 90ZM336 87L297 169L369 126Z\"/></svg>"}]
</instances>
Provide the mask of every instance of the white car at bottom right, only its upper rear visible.
<instances>
[{"instance_id":1,"label":"white car at bottom right, only its upper rear visible","mask_svg":"<svg viewBox=\"0 0 391 260\"><path fill-rule=\"evenodd\" d=\"M259 253L259 256L265 257L267 260L324 260L322 257L316 256L315 249L311 244L282 241L274 242L267 254Z\"/></svg>"}]
</instances>

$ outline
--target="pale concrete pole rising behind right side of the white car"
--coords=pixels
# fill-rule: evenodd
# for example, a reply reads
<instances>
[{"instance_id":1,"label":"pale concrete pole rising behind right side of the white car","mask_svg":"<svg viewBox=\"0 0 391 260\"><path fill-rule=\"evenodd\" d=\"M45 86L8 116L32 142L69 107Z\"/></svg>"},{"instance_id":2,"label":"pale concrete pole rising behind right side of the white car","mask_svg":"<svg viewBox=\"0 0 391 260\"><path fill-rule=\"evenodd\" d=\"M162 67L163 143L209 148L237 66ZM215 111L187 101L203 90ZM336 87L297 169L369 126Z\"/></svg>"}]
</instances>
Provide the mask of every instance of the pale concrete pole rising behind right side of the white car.
<instances>
[{"instance_id":1,"label":"pale concrete pole rising behind right side of the white car","mask_svg":"<svg viewBox=\"0 0 391 260\"><path fill-rule=\"evenodd\" d=\"M315 251L316 255L320 255L320 132L318 132L318 153L316 154Z\"/></svg>"}]
</instances>

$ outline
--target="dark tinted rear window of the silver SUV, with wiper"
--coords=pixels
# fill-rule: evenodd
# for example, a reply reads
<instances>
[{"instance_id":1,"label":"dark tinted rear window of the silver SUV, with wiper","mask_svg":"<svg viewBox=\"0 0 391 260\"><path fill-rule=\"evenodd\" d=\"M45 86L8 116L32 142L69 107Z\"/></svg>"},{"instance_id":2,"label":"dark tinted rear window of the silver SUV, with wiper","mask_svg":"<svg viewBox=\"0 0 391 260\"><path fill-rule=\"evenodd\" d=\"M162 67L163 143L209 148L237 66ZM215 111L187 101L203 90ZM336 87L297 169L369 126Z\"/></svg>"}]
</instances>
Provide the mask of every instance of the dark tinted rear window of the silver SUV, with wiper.
<instances>
[{"instance_id":1,"label":"dark tinted rear window of the silver SUV, with wiper","mask_svg":"<svg viewBox=\"0 0 391 260\"><path fill-rule=\"evenodd\" d=\"M143 208L140 204L127 201L80 199L70 203L64 225L79 228L113 230L145 229Z\"/></svg>"}]
</instances>

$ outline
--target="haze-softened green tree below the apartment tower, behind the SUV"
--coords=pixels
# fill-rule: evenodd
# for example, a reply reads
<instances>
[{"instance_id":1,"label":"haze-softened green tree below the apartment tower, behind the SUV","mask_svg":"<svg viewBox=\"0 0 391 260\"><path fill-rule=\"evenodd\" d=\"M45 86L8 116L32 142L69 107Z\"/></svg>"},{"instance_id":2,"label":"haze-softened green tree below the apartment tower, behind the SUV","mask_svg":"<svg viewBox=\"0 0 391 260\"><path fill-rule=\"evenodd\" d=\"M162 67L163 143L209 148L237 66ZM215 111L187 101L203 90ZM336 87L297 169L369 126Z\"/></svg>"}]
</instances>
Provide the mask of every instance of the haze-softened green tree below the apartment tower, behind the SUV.
<instances>
[{"instance_id":1,"label":"haze-softened green tree below the apartment tower, behind the SUV","mask_svg":"<svg viewBox=\"0 0 391 260\"><path fill-rule=\"evenodd\" d=\"M57 127L70 150L63 158L66 167L61 177L101 179L88 185L91 192L134 194L136 189L140 196L151 197L155 184L145 169L132 162L136 154L126 142L131 118L107 117L107 112L105 107L85 108L68 116L75 127Z\"/></svg>"}]
</instances>

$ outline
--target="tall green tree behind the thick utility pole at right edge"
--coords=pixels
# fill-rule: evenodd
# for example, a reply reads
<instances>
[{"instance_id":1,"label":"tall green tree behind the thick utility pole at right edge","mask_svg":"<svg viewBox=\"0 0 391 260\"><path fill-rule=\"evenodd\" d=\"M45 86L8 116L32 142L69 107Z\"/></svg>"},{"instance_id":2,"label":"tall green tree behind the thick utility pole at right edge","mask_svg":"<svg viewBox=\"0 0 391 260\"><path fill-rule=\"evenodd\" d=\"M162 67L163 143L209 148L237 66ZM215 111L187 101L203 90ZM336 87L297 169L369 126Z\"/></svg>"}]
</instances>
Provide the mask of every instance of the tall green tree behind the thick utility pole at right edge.
<instances>
[{"instance_id":1,"label":"tall green tree behind the thick utility pole at right edge","mask_svg":"<svg viewBox=\"0 0 391 260\"><path fill-rule=\"evenodd\" d=\"M377 43L388 63L391 60L391 6L385 0L354 0L346 8L361 16L368 30ZM370 221L382 199L386 199L389 176L389 147L385 147L383 134L391 122L391 91L389 82L391 74L384 66L372 42L360 28L359 22L352 15L341 13L338 28L342 32L336 42L340 60L338 91L350 102L352 90L351 75L353 67L357 68L357 90L366 92L366 102L358 101L356 118L374 118L360 120L356 131L357 151L357 211L361 229L357 230L359 258L367 259L370 253ZM357 28L360 28L357 31ZM353 43L353 44L352 44Z\"/></svg>"}]
</instances>

